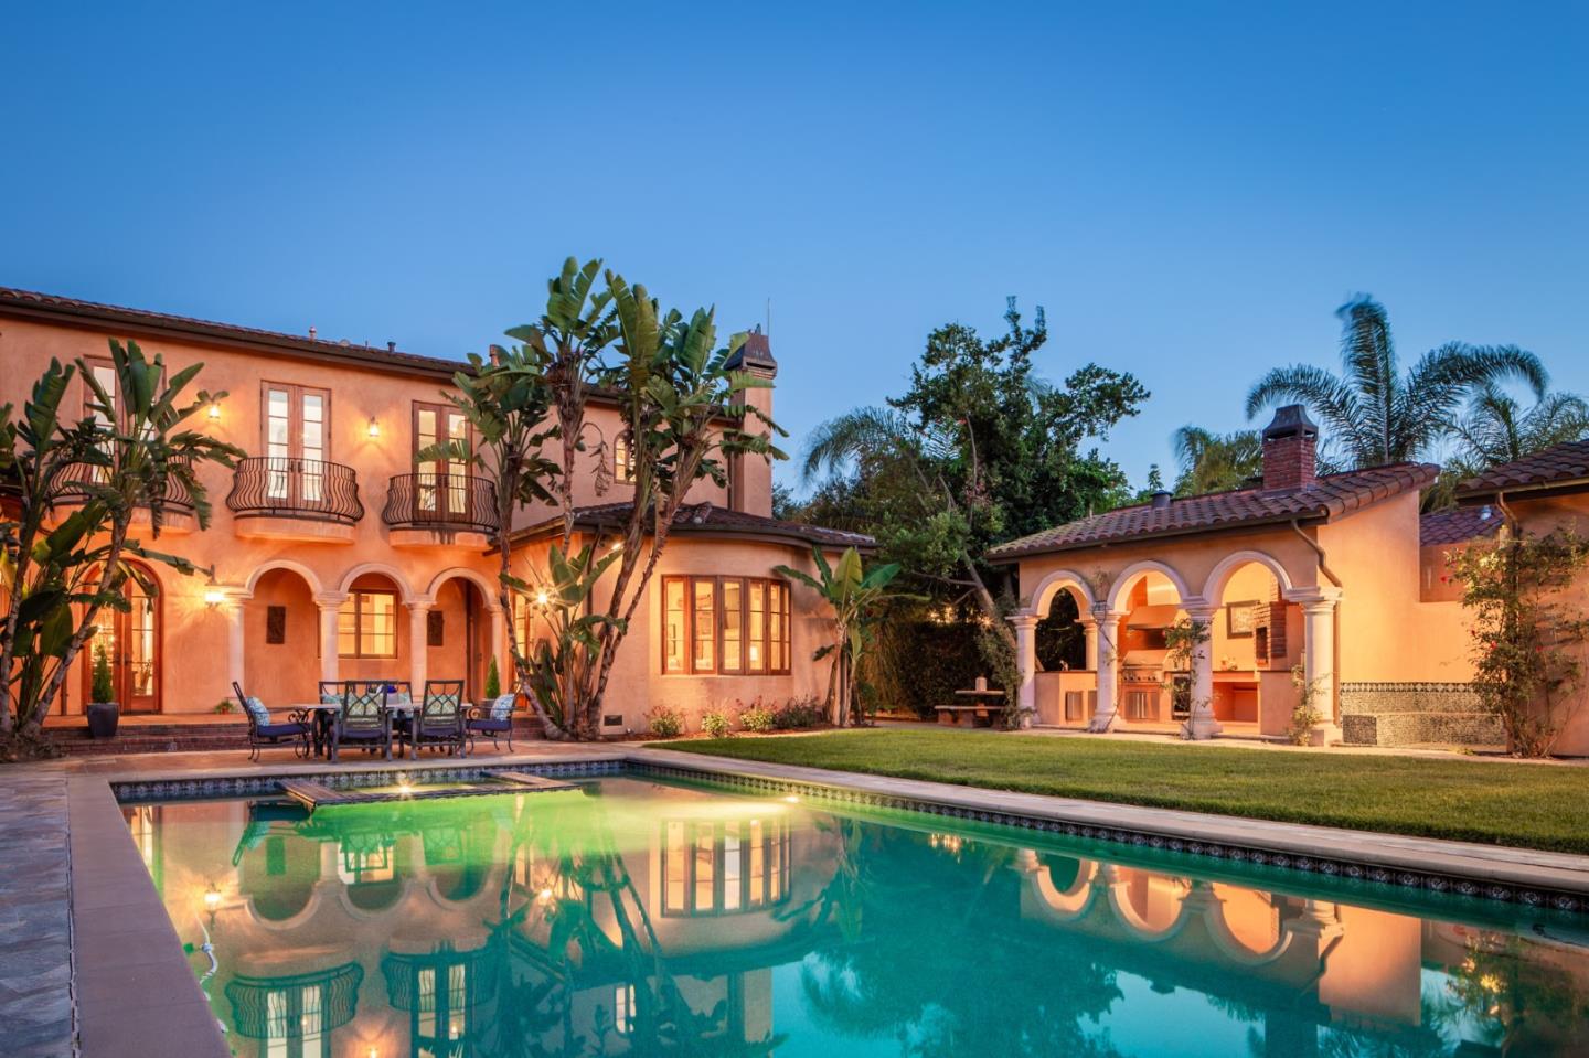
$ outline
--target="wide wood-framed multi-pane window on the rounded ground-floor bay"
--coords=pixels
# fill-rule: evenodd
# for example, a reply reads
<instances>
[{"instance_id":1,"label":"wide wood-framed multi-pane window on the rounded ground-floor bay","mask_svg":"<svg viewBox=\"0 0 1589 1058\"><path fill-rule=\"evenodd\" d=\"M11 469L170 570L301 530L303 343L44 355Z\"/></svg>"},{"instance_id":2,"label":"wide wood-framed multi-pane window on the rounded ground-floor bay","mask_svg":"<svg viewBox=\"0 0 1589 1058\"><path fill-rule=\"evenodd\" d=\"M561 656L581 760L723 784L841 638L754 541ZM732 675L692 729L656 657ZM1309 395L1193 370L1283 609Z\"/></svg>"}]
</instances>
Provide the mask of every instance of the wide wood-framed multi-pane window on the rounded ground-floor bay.
<instances>
[{"instance_id":1,"label":"wide wood-framed multi-pane window on the rounded ground-floor bay","mask_svg":"<svg viewBox=\"0 0 1589 1058\"><path fill-rule=\"evenodd\" d=\"M790 588L760 577L664 577L663 672L790 670Z\"/></svg>"}]
</instances>

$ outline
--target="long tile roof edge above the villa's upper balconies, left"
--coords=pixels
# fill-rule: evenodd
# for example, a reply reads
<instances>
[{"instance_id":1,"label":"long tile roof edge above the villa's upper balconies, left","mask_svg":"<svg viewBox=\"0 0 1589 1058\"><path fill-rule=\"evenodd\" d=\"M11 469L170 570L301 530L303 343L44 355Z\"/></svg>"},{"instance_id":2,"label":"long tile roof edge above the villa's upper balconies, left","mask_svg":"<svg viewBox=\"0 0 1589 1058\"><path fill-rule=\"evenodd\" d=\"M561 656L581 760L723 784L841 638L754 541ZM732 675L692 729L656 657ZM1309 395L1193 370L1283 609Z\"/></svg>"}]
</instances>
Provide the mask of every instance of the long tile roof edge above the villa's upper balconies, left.
<instances>
[{"instance_id":1,"label":"long tile roof edge above the villa's upper balconies, left","mask_svg":"<svg viewBox=\"0 0 1589 1058\"><path fill-rule=\"evenodd\" d=\"M324 338L310 338L300 334L243 327L238 324L215 322L210 319L194 319L191 316L173 316L170 313L156 313L146 308L102 305L99 302L84 302L75 297L57 297L54 294L40 294L37 291L19 291L16 288L0 286L0 311L6 310L25 316L57 319L67 318L78 322L102 324L106 329L122 326L191 335L194 338L224 340L280 353L310 354L332 361L354 361L377 367L423 372L443 378L451 378L453 372L466 367L464 361L453 361L439 356L419 356L418 353L402 353L385 346L327 342Z\"/></svg>"}]
</instances>

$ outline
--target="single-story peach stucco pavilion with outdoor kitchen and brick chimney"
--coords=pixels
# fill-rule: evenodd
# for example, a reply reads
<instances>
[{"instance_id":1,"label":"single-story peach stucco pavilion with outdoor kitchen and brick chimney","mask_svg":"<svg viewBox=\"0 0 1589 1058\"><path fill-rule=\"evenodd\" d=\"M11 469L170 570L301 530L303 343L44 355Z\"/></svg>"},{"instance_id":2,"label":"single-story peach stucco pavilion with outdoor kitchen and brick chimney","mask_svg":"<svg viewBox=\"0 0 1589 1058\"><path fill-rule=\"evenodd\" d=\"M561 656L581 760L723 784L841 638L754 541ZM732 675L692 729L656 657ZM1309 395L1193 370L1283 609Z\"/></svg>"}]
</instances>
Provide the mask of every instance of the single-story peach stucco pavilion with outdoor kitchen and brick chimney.
<instances>
[{"instance_id":1,"label":"single-story peach stucco pavilion with outdoor kitchen and brick chimney","mask_svg":"<svg viewBox=\"0 0 1589 1058\"><path fill-rule=\"evenodd\" d=\"M1319 477L1316 440L1303 408L1281 408L1263 431L1262 481L1249 488L1160 492L993 548L1019 566L1026 604L1012 621L1028 720L1278 736L1311 686L1324 715L1317 742L1503 742L1470 686L1471 637L1446 556L1506 519L1583 532L1589 443L1497 467L1463 483L1456 510L1421 515L1419 489L1438 467ZM1034 629L1058 593L1076 600L1087 661L1041 672ZM1182 618L1206 621L1208 642L1168 650ZM1567 718L1556 748L1589 753L1589 710Z\"/></svg>"}]
</instances>

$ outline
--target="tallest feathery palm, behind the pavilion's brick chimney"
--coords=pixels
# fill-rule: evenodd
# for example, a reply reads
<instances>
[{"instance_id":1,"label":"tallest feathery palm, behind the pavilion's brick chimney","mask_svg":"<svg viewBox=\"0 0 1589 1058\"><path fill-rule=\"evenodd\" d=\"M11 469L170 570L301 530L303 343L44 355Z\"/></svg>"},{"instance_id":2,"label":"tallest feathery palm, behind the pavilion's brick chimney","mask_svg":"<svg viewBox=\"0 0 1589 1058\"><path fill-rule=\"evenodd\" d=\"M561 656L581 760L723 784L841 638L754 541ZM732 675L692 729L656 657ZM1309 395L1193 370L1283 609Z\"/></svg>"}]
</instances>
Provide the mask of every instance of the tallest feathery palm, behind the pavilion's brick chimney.
<instances>
[{"instance_id":1,"label":"tallest feathery palm, behind the pavilion's brick chimney","mask_svg":"<svg viewBox=\"0 0 1589 1058\"><path fill-rule=\"evenodd\" d=\"M1360 295L1341 319L1341 375L1311 364L1276 367L1247 392L1247 418L1300 400L1324 423L1355 467L1417 459L1448 437L1463 400L1486 386L1522 381L1545 396L1540 357L1514 345L1448 342L1405 373L1384 305Z\"/></svg>"}]
</instances>

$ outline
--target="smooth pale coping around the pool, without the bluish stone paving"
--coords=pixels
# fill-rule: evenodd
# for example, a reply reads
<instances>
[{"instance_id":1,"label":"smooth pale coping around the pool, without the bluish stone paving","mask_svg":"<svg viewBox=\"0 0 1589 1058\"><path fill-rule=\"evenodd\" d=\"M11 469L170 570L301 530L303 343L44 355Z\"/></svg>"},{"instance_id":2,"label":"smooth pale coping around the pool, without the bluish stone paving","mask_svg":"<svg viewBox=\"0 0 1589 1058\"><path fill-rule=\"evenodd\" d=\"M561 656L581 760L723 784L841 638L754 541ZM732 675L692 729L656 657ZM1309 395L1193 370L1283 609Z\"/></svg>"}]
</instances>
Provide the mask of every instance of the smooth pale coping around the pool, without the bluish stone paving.
<instances>
[{"instance_id":1,"label":"smooth pale coping around the pool, without the bluish stone paving","mask_svg":"<svg viewBox=\"0 0 1589 1058\"><path fill-rule=\"evenodd\" d=\"M928 812L1122 845L1362 878L1392 888L1589 913L1589 856L1427 837L1271 823L1176 809L957 786L639 747L588 747L481 763L423 761L211 767L168 775L67 778L72 863L72 958L79 1052L86 1058L230 1053L183 952L154 880L121 815L124 801L272 796L278 778L321 777L358 786L396 775L469 778L497 770L547 775L659 775L710 780L767 794ZM102 956L89 958L102 952ZM129 972L133 971L135 972ZM173 1042L175 1041L175 1042Z\"/></svg>"}]
</instances>

